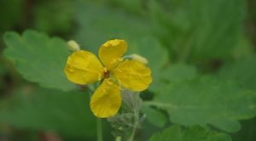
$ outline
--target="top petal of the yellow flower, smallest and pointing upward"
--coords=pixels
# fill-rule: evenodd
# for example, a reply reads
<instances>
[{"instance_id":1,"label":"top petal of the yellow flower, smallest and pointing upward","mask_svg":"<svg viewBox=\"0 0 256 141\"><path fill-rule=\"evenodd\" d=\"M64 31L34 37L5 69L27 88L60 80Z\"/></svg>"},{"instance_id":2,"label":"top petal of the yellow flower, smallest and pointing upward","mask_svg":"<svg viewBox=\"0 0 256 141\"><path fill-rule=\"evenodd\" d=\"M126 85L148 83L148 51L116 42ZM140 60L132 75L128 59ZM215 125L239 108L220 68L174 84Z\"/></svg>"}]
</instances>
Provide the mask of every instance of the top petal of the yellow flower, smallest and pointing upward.
<instances>
[{"instance_id":1,"label":"top petal of the yellow flower, smallest and pointing upward","mask_svg":"<svg viewBox=\"0 0 256 141\"><path fill-rule=\"evenodd\" d=\"M105 65L108 70L111 70L119 62L119 59L122 58L126 50L127 44L125 40L109 40L99 49L99 57L103 65Z\"/></svg>"}]
</instances>

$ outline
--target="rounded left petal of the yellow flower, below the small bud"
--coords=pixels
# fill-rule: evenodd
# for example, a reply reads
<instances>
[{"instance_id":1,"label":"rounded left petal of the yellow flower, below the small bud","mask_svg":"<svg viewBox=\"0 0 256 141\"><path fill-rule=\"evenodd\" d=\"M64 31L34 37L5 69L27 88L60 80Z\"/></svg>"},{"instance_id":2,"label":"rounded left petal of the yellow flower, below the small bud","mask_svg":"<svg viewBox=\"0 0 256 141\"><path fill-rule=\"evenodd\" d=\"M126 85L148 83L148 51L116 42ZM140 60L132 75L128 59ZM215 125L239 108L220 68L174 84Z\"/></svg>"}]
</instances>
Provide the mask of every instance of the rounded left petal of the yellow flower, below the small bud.
<instances>
[{"instance_id":1,"label":"rounded left petal of the yellow flower, below the small bud","mask_svg":"<svg viewBox=\"0 0 256 141\"><path fill-rule=\"evenodd\" d=\"M89 84L102 78L103 66L95 54L79 50L68 57L65 74L70 82Z\"/></svg>"}]
</instances>

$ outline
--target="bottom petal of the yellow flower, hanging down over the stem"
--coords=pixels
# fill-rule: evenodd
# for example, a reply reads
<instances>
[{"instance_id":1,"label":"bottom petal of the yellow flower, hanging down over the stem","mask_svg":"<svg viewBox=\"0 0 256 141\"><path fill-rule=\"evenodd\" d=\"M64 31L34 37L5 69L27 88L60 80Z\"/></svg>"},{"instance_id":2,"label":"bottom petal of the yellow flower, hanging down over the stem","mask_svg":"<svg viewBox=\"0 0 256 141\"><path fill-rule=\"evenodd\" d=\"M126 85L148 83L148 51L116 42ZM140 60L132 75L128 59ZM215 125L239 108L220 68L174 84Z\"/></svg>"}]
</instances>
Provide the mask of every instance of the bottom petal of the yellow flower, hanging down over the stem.
<instances>
[{"instance_id":1,"label":"bottom petal of the yellow flower, hanging down over the stem","mask_svg":"<svg viewBox=\"0 0 256 141\"><path fill-rule=\"evenodd\" d=\"M100 118L114 116L118 112L121 102L119 87L106 79L91 96L90 110Z\"/></svg>"}]
</instances>

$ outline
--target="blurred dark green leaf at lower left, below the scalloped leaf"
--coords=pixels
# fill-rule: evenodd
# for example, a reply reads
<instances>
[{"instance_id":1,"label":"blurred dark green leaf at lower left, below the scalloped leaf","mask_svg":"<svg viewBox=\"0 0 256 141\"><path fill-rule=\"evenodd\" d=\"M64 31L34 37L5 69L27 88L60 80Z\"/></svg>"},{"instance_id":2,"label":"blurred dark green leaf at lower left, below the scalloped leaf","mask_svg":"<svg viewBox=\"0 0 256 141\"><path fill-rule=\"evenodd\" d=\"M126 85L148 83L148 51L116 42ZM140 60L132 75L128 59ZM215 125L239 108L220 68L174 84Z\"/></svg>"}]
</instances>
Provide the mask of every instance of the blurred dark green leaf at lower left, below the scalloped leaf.
<instances>
[{"instance_id":1,"label":"blurred dark green leaf at lower left, below the scalloped leaf","mask_svg":"<svg viewBox=\"0 0 256 141\"><path fill-rule=\"evenodd\" d=\"M17 128L93 138L96 121L88 103L87 93L26 86L18 89L11 98L2 99L0 122Z\"/></svg>"}]
</instances>

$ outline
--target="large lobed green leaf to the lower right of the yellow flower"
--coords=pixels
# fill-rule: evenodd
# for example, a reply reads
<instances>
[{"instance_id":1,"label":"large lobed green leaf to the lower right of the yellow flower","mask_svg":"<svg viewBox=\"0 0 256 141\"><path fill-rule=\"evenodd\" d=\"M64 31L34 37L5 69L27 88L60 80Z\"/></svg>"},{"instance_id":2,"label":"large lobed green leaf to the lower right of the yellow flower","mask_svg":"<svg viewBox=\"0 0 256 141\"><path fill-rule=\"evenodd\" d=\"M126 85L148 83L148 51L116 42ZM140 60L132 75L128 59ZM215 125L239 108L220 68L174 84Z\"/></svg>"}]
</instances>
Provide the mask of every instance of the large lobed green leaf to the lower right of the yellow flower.
<instances>
[{"instance_id":1,"label":"large lobed green leaf to the lower right of the yellow flower","mask_svg":"<svg viewBox=\"0 0 256 141\"><path fill-rule=\"evenodd\" d=\"M162 83L154 100L144 104L166 110L174 123L212 125L227 132L236 132L240 129L238 120L256 115L256 93L244 90L236 82L220 81L212 76L176 82L172 77L166 78L170 81Z\"/></svg>"}]
</instances>

